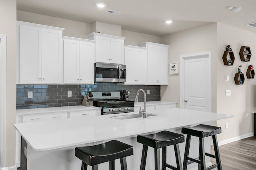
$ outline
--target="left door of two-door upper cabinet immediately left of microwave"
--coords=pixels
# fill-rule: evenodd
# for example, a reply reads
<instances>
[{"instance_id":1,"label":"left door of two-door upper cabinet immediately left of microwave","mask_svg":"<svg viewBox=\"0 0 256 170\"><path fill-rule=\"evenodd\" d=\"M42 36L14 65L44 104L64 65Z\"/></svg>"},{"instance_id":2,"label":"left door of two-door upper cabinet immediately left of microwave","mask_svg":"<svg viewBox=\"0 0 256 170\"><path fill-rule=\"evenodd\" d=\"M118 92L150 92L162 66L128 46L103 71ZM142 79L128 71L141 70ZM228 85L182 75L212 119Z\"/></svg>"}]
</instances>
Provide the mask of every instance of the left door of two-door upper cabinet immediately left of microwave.
<instances>
[{"instance_id":1,"label":"left door of two-door upper cabinet immediately left of microwave","mask_svg":"<svg viewBox=\"0 0 256 170\"><path fill-rule=\"evenodd\" d=\"M79 82L79 41L64 39L64 71L63 82L67 84Z\"/></svg>"}]
</instances>

